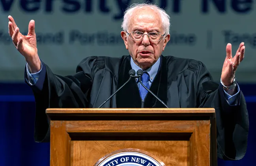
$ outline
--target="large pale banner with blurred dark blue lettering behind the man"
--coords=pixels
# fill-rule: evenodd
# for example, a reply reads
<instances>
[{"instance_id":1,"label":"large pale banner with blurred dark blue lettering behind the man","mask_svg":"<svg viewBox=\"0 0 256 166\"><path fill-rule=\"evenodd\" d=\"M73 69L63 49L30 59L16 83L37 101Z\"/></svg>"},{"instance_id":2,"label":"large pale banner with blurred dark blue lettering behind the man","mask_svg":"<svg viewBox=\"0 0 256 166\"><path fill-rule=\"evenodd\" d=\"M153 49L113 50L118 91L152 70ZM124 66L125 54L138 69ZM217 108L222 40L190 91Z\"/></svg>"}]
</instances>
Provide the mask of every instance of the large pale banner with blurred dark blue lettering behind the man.
<instances>
[{"instance_id":1,"label":"large pale banner with blurred dark blue lettering behind the man","mask_svg":"<svg viewBox=\"0 0 256 166\"><path fill-rule=\"evenodd\" d=\"M0 0L0 79L23 81L26 62L8 35L8 15L23 34L36 23L40 58L56 74L75 72L94 55L128 55L120 37L124 9L135 0ZM256 81L256 2L253 0L151 0L171 17L171 40L163 55L197 59L216 81L226 56L245 42L237 79Z\"/></svg>"}]
</instances>

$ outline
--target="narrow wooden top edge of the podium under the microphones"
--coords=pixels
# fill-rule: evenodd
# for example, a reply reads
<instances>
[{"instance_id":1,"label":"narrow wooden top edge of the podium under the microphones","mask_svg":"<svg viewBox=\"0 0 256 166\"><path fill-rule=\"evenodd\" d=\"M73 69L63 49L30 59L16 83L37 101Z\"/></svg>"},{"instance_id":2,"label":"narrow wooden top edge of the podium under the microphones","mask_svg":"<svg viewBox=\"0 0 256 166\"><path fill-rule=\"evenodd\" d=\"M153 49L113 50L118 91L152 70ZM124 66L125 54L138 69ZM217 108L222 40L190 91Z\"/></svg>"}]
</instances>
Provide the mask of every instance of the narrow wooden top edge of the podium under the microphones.
<instances>
[{"instance_id":1,"label":"narrow wooden top edge of the podium under the microphones","mask_svg":"<svg viewBox=\"0 0 256 166\"><path fill-rule=\"evenodd\" d=\"M215 113L214 108L48 108L47 114L179 114Z\"/></svg>"}]
</instances>

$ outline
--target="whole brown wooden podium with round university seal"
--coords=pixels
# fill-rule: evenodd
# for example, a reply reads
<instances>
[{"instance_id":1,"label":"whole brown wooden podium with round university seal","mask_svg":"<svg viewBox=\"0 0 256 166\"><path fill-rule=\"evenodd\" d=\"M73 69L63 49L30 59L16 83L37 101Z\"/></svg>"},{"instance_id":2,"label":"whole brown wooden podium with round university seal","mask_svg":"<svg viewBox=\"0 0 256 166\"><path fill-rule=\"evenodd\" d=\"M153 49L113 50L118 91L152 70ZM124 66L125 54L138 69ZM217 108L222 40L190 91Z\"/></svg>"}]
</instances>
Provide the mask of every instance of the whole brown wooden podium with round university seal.
<instances>
[{"instance_id":1,"label":"whole brown wooden podium with round university seal","mask_svg":"<svg viewBox=\"0 0 256 166\"><path fill-rule=\"evenodd\" d=\"M98 166L122 149L144 152L161 166L217 165L213 108L47 109L46 114L51 166Z\"/></svg>"}]
</instances>

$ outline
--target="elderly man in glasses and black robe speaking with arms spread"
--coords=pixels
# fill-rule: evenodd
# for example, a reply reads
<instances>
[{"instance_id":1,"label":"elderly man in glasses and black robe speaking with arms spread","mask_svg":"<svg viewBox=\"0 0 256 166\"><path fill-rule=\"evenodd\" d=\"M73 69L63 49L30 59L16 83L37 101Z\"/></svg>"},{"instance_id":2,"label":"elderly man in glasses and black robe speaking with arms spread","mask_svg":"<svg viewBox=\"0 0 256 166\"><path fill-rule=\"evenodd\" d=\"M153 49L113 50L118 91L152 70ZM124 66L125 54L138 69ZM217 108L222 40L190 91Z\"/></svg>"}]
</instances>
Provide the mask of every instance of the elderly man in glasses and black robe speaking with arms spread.
<instances>
[{"instance_id":1,"label":"elderly man in glasses and black robe speaking with arms spread","mask_svg":"<svg viewBox=\"0 0 256 166\"><path fill-rule=\"evenodd\" d=\"M234 56L231 44L227 44L220 83L215 83L200 61L162 55L170 39L169 16L163 9L153 4L133 4L124 13L120 33L130 55L87 57L73 76L58 76L38 55L34 20L29 22L28 34L22 35L14 19L8 18L9 35L26 59L25 80L36 100L36 142L49 141L45 109L99 107L130 78L129 71L134 69L143 71L141 82L169 108L215 108L218 157L238 160L245 155L248 113L235 79L237 67L244 58L243 42ZM102 107L165 105L134 78Z\"/></svg>"}]
</instances>

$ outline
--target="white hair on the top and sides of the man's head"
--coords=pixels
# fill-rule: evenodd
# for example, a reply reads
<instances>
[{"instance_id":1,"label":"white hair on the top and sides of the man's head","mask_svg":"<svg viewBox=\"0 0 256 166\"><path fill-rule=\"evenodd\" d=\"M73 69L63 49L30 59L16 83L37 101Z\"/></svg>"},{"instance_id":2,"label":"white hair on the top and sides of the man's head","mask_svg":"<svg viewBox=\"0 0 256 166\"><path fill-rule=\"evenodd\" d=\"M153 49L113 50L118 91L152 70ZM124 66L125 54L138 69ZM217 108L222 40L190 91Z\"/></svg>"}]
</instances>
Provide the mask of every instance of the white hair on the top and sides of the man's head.
<instances>
[{"instance_id":1,"label":"white hair on the top and sides of the man's head","mask_svg":"<svg viewBox=\"0 0 256 166\"><path fill-rule=\"evenodd\" d=\"M146 3L132 4L130 7L128 7L126 9L126 11L124 12L124 18L123 18L123 22L122 22L122 26L121 26L123 31L128 31L130 16L132 15L132 13L135 9L138 9L141 7L150 7L151 9L158 11L158 13L162 19L162 24L164 26L165 33L166 33L166 35L169 35L169 29L170 29L169 15L166 13L166 11L164 9L158 7L157 5L146 4Z\"/></svg>"}]
</instances>

